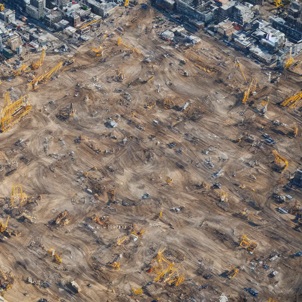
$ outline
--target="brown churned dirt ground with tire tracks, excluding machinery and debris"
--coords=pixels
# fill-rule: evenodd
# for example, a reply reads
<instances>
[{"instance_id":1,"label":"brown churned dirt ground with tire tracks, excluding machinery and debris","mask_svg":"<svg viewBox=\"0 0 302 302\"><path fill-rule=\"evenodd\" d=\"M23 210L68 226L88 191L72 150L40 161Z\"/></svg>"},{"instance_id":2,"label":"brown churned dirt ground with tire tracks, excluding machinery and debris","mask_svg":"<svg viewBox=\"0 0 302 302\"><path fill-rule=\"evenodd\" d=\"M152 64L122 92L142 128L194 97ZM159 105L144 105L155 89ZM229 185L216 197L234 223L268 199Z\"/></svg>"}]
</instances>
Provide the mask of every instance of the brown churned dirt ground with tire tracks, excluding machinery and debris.
<instances>
[{"instance_id":1,"label":"brown churned dirt ground with tire tracks, excluding machinery and debris","mask_svg":"<svg viewBox=\"0 0 302 302\"><path fill-rule=\"evenodd\" d=\"M299 71L279 75L278 85L273 85L259 64L221 42L197 34L201 43L180 52L161 40L154 30L145 34L145 27L151 29L159 12L140 6L129 12L114 22L123 23L123 42L142 54L117 46L119 35L115 34L101 43L91 40L83 45L76 52L73 65L64 66L57 79L39 83L35 91L28 86L26 77L18 76L8 82L2 73L1 95L13 87L11 99L28 94L33 107L11 130L0 134L0 164L5 167L0 172L1 220L6 221L10 213L8 227L14 229L11 224L18 225L21 232L21 236L7 238L0 246L0 267L15 278L4 298L8 302L37 301L41 297L50 301L131 301L130 287L143 286L143 294L136 296L140 302L157 297L160 301L180 301L179 297L217 301L222 293L229 301L262 302L270 297L279 302L301 301L302 257L289 257L301 250L301 233L293 228L295 216L276 211L280 204L272 198L277 189L279 194L288 194L282 193L282 188L301 165L300 113L278 105L300 90ZM99 31L106 30L101 25ZM111 55L105 62L99 62L100 57L91 51L99 43L103 57ZM218 47L232 54L228 56ZM171 56L162 56L167 53ZM151 55L155 58L151 63L143 61ZM239 68L235 68L235 57L247 81L250 76L258 79L257 94L251 95L245 106L236 98L237 88L244 89L247 83ZM24 55L27 65L37 58L30 53ZM59 55L46 55L36 74L52 69L61 59ZM186 65L180 63L182 59L187 60ZM199 65L215 70L207 73L198 69L193 63L197 60ZM219 62L227 63L218 65ZM115 80L115 69L123 70L123 82ZM189 77L183 75L184 69ZM151 75L154 79L146 82ZM92 85L94 76L99 79L95 84L102 86L99 90ZM131 100L124 98L126 92ZM188 111L166 110L163 103L167 96L180 108L188 102ZM259 110L265 96L269 97L268 112L262 116ZM52 100L55 103L49 104ZM1 106L3 102L4 98ZM151 102L156 102L156 106L144 108ZM75 117L57 118L59 109L70 103L74 104ZM106 127L110 116L113 120L118 118L116 128ZM287 124L289 130L275 127L274 120ZM295 124L299 132L294 138L288 132ZM139 126L145 130L139 130ZM111 137L103 135L104 131L111 132ZM245 132L255 138L254 143L236 142ZM277 143L259 144L265 139L263 133ZM76 143L74 140L80 135L91 142ZM23 140L21 147L14 145L19 139ZM174 145L169 148L172 142ZM97 153L89 145L106 151ZM283 174L272 169L274 149L288 160ZM209 157L212 169L204 163ZM247 163L253 160L257 164L251 167ZM17 171L5 176L14 167ZM222 175L212 177L220 169ZM88 175L83 174L86 171ZM172 178L172 183L165 185L168 178ZM9 208L11 188L16 182L28 197L42 196L38 205L24 205L37 218L36 224L22 222L14 215L18 209ZM214 182L221 184L217 191L228 193L225 210L217 206L216 192L205 189L203 182L210 186ZM88 186L93 194L85 190ZM112 202L111 189L115 190L118 204ZM145 194L149 195L143 198ZM300 201L299 191L289 194L294 199L286 200L282 207L292 207L296 200ZM172 207L181 210L170 210ZM237 216L245 208L262 220ZM62 211L68 212L69 224L52 225ZM162 217L158 217L160 212ZM95 213L98 217L109 216L109 225L135 223L136 231L143 229L146 233L135 242L131 234L121 246L116 246L127 230L101 228L91 219ZM88 230L84 223L95 229ZM239 246L243 234L259 244L253 255ZM62 264L46 253L50 247L55 248ZM161 282L147 285L156 277L153 271L146 272L149 262L164 248L165 258L174 262L185 278L179 286ZM275 251L279 252L278 258L268 261ZM115 270L108 262L119 254L120 270ZM266 260L270 269L253 266L258 264L254 259ZM233 279L221 276L231 265L241 268L238 275ZM269 278L272 270L278 275ZM204 274L213 277L206 280ZM28 277L50 286L44 289L28 284ZM81 287L79 293L67 285L73 280ZM92 286L86 286L88 283ZM199 290L204 284L207 288ZM244 287L259 291L258 297ZM26 292L28 296L24 295Z\"/></svg>"}]
</instances>

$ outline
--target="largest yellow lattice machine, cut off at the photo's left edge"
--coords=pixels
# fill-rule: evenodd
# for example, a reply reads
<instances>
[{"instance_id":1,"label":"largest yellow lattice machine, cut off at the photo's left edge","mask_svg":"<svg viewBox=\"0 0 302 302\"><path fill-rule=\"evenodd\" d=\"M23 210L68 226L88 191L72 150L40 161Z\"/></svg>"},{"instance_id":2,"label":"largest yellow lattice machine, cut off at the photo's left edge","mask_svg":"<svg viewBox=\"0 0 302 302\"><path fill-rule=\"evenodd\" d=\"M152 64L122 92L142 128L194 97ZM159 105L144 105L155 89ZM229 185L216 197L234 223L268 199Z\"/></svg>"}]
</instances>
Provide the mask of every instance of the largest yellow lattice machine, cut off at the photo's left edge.
<instances>
[{"instance_id":1,"label":"largest yellow lattice machine, cut off at the photo's left edge","mask_svg":"<svg viewBox=\"0 0 302 302\"><path fill-rule=\"evenodd\" d=\"M1 110L0 131L6 132L21 120L29 111L31 111L28 95L24 95L17 101L11 102L9 92L5 94L5 101Z\"/></svg>"}]
</instances>

